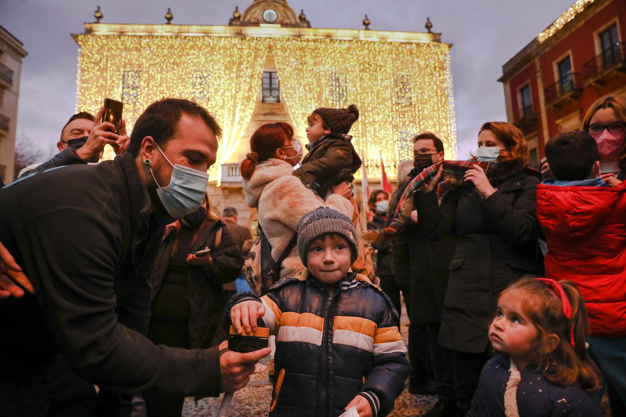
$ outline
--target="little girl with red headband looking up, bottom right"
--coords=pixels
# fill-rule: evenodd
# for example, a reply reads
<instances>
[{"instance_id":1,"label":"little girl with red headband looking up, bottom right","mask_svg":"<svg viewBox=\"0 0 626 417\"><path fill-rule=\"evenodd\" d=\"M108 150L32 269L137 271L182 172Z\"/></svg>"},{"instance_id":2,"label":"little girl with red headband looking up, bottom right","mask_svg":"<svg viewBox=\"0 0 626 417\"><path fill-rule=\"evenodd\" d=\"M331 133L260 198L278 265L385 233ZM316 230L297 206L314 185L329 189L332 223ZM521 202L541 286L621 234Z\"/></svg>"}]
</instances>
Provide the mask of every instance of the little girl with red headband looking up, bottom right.
<instances>
[{"instance_id":1,"label":"little girl with red headband looking up, bottom right","mask_svg":"<svg viewBox=\"0 0 626 417\"><path fill-rule=\"evenodd\" d=\"M489 327L499 354L483 368L468 417L602 416L588 395L600 379L586 336L572 282L526 277L508 286Z\"/></svg>"}]
</instances>

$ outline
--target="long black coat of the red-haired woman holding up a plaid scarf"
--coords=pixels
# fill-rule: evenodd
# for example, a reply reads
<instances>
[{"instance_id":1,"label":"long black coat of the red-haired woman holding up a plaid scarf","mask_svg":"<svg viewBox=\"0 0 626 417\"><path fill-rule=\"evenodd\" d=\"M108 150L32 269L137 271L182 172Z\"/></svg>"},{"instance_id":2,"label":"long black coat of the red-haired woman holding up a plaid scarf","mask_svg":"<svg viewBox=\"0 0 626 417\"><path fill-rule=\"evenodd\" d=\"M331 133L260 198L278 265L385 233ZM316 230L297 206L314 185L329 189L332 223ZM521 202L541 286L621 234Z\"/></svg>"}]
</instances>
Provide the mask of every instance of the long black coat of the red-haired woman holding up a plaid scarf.
<instances>
[{"instance_id":1,"label":"long black coat of the red-haired woman holding up a plaid scarf","mask_svg":"<svg viewBox=\"0 0 626 417\"><path fill-rule=\"evenodd\" d=\"M526 274L540 274L543 265L536 216L540 173L526 168L490 182L497 191L484 199L473 185L449 192L439 205L435 192L415 198L427 239L449 232L456 237L439 343L469 353L487 348L500 292Z\"/></svg>"}]
</instances>

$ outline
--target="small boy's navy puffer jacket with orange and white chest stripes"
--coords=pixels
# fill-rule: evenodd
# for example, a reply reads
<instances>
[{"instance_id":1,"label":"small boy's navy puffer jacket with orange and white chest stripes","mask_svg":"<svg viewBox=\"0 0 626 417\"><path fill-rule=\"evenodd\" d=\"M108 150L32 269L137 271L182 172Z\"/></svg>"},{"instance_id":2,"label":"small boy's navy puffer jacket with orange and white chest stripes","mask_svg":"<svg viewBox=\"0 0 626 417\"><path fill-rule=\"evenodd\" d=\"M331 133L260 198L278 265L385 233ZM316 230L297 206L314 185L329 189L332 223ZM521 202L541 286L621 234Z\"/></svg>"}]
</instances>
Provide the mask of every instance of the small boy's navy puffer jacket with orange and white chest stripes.
<instances>
[{"instance_id":1,"label":"small boy's navy puffer jacket with orange and white chest stripes","mask_svg":"<svg viewBox=\"0 0 626 417\"><path fill-rule=\"evenodd\" d=\"M260 327L276 335L276 388L270 416L330 417L357 395L373 416L386 416L409 375L399 317L389 297L366 276L349 272L334 296L304 270L283 278L259 299L242 292L230 307L261 301Z\"/></svg>"}]
</instances>

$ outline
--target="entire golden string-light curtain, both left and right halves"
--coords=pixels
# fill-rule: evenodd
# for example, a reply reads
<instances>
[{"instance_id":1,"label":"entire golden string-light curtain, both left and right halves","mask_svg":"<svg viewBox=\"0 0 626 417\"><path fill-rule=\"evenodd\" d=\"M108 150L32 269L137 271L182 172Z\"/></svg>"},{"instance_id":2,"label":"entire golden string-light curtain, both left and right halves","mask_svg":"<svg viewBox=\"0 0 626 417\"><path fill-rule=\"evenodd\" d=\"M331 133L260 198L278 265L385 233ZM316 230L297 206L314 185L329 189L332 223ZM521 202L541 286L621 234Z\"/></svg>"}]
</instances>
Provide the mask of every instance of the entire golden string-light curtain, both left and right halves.
<instances>
[{"instance_id":1,"label":"entire golden string-light curtain, both left and right halves","mask_svg":"<svg viewBox=\"0 0 626 417\"><path fill-rule=\"evenodd\" d=\"M354 103L361 117L350 133L368 175L379 177L382 154L394 177L399 160L413 157L411 137L424 130L443 140L448 158L456 157L448 44L90 34L77 41L81 54L76 110L95 114L104 98L121 100L131 129L155 100L197 101L224 131L218 163L210 170L211 180L217 182L219 165L228 162L242 139L247 146L244 135L270 50L297 137L306 137L307 116L317 107ZM112 151L108 153L111 158Z\"/></svg>"}]
</instances>

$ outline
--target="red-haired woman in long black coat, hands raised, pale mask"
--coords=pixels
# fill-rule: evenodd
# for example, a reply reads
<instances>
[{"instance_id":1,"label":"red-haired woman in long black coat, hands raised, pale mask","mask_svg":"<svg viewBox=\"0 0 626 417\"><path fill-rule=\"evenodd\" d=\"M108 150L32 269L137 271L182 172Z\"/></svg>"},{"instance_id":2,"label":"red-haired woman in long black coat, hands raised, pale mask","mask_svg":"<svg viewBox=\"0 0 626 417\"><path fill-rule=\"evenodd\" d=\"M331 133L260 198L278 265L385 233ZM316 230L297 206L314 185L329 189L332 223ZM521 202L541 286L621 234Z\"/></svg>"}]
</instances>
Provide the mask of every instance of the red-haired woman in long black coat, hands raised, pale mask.
<instances>
[{"instance_id":1,"label":"red-haired woman in long black coat, hands raised, pale mask","mask_svg":"<svg viewBox=\"0 0 626 417\"><path fill-rule=\"evenodd\" d=\"M488 177L480 165L473 165L464 174L464 186L438 202L434 186L440 170L415 198L418 226L426 239L456 237L438 342L453 349L462 415L490 358L487 328L500 292L511 281L541 272L543 264L535 195L541 174L529 167L523 133L504 121L483 124L475 159L493 161L496 169Z\"/></svg>"}]
</instances>

